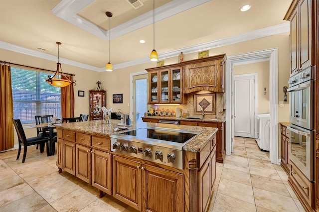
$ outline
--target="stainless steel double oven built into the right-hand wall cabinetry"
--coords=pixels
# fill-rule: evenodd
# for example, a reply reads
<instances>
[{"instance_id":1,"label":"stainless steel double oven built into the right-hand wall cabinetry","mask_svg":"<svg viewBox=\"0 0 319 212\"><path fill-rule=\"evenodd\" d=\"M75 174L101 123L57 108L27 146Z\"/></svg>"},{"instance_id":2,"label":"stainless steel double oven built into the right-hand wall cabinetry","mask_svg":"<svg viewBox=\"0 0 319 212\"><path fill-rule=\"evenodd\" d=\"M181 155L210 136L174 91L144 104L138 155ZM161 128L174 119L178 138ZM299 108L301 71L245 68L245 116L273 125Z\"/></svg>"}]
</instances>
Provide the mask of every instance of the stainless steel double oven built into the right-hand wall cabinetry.
<instances>
[{"instance_id":1,"label":"stainless steel double oven built into the right-hand wall cabinetry","mask_svg":"<svg viewBox=\"0 0 319 212\"><path fill-rule=\"evenodd\" d=\"M290 160L313 181L313 81L314 67L292 76L289 81L291 131Z\"/></svg>"}]
</instances>

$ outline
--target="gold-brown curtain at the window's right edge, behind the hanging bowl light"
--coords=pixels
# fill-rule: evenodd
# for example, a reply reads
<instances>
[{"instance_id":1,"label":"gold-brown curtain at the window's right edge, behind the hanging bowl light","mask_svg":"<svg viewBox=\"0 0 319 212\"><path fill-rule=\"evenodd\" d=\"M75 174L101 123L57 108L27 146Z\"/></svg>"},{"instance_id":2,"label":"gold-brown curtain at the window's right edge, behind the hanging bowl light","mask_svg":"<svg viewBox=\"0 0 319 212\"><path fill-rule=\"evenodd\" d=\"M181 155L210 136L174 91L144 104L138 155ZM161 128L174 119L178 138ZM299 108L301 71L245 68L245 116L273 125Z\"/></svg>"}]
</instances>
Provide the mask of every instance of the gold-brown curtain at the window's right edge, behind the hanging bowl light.
<instances>
[{"instance_id":1,"label":"gold-brown curtain at the window's right edge, behind the hanging bowl light","mask_svg":"<svg viewBox=\"0 0 319 212\"><path fill-rule=\"evenodd\" d=\"M69 76L69 80L73 82L73 77ZM62 110L62 118L74 117L73 83L61 88L61 110Z\"/></svg>"}]
</instances>

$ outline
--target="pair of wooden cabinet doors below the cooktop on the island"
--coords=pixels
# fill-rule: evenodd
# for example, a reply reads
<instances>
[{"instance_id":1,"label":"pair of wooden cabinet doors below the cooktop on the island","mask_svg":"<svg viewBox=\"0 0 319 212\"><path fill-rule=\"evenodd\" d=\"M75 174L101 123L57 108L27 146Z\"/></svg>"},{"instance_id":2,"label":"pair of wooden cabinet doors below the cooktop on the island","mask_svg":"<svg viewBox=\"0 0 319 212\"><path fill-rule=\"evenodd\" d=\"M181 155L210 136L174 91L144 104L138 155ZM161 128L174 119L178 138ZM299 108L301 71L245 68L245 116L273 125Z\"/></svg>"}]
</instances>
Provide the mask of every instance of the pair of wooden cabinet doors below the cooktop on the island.
<instances>
[{"instance_id":1,"label":"pair of wooden cabinet doors below the cooktop on the island","mask_svg":"<svg viewBox=\"0 0 319 212\"><path fill-rule=\"evenodd\" d=\"M184 211L182 174L119 156L113 169L113 196L120 201L139 211Z\"/></svg>"}]
</instances>

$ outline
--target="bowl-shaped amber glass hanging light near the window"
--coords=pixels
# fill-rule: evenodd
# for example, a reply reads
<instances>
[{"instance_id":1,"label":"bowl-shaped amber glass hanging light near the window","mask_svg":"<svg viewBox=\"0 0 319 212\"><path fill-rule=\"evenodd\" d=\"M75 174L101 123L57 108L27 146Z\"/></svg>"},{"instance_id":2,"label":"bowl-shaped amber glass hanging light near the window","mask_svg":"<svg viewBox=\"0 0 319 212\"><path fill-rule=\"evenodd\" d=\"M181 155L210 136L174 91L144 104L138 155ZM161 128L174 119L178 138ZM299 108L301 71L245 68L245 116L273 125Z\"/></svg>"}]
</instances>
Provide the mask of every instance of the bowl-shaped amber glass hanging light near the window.
<instances>
[{"instance_id":1,"label":"bowl-shaped amber glass hanging light near the window","mask_svg":"<svg viewBox=\"0 0 319 212\"><path fill-rule=\"evenodd\" d=\"M55 86L55 87L65 87L70 85L72 82L64 75L63 71L62 71L62 67L61 67L61 63L60 63L60 45L61 42L56 41L56 44L58 44L58 62L57 64L57 68L56 68L56 72L54 74L53 77L51 77L50 75L48 76L49 78L46 79L45 81L47 83L49 83L51 86ZM61 69L61 72L60 72Z\"/></svg>"}]
</instances>

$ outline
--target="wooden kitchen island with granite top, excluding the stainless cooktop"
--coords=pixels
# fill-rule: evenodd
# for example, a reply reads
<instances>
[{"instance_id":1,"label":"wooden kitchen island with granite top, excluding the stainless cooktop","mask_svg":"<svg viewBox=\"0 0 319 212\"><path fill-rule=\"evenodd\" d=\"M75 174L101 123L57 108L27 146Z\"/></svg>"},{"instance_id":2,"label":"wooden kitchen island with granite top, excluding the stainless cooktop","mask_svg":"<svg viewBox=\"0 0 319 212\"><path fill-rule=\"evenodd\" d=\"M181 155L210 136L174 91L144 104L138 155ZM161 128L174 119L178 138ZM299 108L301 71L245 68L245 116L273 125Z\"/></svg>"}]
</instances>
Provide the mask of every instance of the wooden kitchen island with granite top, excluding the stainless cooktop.
<instances>
[{"instance_id":1,"label":"wooden kitchen island with granite top, excluding the stainless cooktop","mask_svg":"<svg viewBox=\"0 0 319 212\"><path fill-rule=\"evenodd\" d=\"M119 120L112 120L111 124L93 120L57 126L59 172L67 171L98 188L101 197L112 195L139 211L207 211L216 176L218 129L133 122L127 130L120 131L155 127L200 133L182 147L182 157L178 158L182 160L182 169L179 169L167 166L165 163L169 161L161 164L116 152L110 136L119 133L114 131L119 123ZM129 152L124 147L123 151Z\"/></svg>"}]
</instances>

